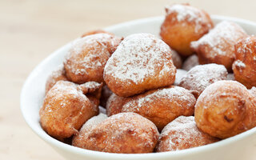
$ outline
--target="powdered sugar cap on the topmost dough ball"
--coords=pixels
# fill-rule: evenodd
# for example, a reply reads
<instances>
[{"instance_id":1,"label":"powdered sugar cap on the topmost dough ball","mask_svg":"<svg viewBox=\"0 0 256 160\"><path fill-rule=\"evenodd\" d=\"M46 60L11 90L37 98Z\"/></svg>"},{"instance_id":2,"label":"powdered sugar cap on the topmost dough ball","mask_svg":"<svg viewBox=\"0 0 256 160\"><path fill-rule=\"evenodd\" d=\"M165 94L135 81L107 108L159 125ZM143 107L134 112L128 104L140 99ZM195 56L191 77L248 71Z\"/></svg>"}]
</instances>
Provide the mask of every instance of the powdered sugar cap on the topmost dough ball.
<instances>
[{"instance_id":1,"label":"powdered sugar cap on the topmost dough ball","mask_svg":"<svg viewBox=\"0 0 256 160\"><path fill-rule=\"evenodd\" d=\"M202 31L202 27L212 27L211 23L206 23L209 21L209 18L206 17L206 14L202 10L198 10L188 4L166 6L166 14L176 14L172 21L193 22L195 24L195 33ZM202 25L204 23L206 23L206 26Z\"/></svg>"}]
</instances>

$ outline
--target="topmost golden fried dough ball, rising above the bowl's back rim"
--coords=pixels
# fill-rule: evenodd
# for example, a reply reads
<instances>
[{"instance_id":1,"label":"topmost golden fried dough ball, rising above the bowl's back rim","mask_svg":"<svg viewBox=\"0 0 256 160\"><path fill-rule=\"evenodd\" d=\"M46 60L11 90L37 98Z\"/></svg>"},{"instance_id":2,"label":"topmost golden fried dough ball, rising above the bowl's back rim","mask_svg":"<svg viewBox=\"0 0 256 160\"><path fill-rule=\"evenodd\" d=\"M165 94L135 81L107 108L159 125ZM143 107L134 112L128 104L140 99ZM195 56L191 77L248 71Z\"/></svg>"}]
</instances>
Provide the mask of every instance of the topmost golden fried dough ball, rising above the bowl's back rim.
<instances>
[{"instance_id":1,"label":"topmost golden fried dough ball, rising above the bowl's back rim","mask_svg":"<svg viewBox=\"0 0 256 160\"><path fill-rule=\"evenodd\" d=\"M197 41L213 26L205 11L189 4L174 4L166 7L166 19L162 23L160 36L179 54L189 56L193 54L190 42Z\"/></svg>"}]
</instances>

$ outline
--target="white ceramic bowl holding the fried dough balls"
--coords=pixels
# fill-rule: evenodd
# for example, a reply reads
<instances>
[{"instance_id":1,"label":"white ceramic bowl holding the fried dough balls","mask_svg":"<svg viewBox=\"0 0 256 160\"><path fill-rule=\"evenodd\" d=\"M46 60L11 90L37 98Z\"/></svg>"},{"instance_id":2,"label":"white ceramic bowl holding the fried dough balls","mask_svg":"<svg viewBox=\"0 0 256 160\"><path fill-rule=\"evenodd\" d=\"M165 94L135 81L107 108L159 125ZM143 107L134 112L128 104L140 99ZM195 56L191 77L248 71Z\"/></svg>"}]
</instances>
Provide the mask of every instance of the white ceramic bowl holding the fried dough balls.
<instances>
[{"instance_id":1,"label":"white ceramic bowl holding the fried dough balls","mask_svg":"<svg viewBox=\"0 0 256 160\"><path fill-rule=\"evenodd\" d=\"M256 23L254 22L222 16L212 16L212 19L214 23L222 20L237 22L248 34L256 34ZM105 30L118 36L127 36L134 33L158 35L162 21L163 17L145 18L110 26ZM67 51L70 50L70 46L71 42L62 46L62 48L43 60L26 79L21 94L21 110L27 124L34 130L34 133L38 134L40 138L50 144L63 157L70 160L247 160L256 158L251 157L251 154L256 151L256 127L232 138L227 138L210 145L157 154L110 154L93 150L83 150L51 138L42 130L39 124L39 108L42 106L46 78L51 70L54 70L62 63Z\"/></svg>"}]
</instances>

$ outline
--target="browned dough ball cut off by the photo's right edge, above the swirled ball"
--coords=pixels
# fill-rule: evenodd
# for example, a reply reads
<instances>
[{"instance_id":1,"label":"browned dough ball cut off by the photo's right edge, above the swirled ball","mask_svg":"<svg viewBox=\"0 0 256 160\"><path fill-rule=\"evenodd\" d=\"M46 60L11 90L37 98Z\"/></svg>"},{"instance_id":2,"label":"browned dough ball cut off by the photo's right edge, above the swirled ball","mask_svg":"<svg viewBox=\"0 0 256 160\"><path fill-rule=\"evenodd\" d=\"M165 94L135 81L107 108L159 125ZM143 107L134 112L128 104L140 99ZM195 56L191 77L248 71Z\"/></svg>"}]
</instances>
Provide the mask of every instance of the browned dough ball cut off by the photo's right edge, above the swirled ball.
<instances>
[{"instance_id":1,"label":"browned dough ball cut off by the photo's right edge, above the swirled ball","mask_svg":"<svg viewBox=\"0 0 256 160\"><path fill-rule=\"evenodd\" d=\"M244 38L235 45L233 71L235 80L247 88L256 86L256 36Z\"/></svg>"}]
</instances>

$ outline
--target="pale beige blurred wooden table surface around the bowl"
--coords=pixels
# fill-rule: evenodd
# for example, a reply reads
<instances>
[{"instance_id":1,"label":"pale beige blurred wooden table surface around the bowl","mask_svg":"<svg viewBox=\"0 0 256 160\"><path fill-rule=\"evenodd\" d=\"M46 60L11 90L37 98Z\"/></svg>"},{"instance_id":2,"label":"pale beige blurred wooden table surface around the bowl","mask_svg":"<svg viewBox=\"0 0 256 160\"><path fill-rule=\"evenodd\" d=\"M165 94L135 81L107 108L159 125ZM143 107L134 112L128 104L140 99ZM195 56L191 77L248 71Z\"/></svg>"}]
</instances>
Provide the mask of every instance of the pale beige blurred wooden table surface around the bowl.
<instances>
[{"instance_id":1,"label":"pale beige blurred wooden table surface around the bowl","mask_svg":"<svg viewBox=\"0 0 256 160\"><path fill-rule=\"evenodd\" d=\"M42 59L86 31L163 15L173 2L256 22L254 0L0 0L0 159L64 159L30 130L19 108L23 82Z\"/></svg>"}]
</instances>

